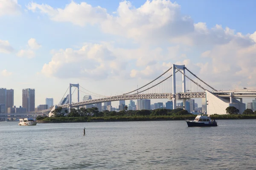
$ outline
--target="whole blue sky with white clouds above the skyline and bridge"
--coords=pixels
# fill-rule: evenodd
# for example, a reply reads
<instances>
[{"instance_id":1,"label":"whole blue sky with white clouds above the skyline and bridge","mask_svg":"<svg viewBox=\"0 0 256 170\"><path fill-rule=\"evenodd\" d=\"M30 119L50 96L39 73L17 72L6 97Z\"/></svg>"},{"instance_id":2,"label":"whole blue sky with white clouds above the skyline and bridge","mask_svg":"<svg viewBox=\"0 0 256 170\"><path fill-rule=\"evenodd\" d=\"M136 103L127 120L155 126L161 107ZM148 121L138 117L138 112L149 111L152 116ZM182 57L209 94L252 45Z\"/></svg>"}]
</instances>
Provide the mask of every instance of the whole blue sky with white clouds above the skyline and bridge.
<instances>
[{"instance_id":1,"label":"whole blue sky with white clouds above the skyline and bridge","mask_svg":"<svg viewBox=\"0 0 256 170\"><path fill-rule=\"evenodd\" d=\"M254 0L0 0L0 88L15 90L16 106L23 88L35 88L36 106L45 98L58 104L69 83L118 95L174 63L216 89L256 89L255 6Z\"/></svg>"}]
</instances>

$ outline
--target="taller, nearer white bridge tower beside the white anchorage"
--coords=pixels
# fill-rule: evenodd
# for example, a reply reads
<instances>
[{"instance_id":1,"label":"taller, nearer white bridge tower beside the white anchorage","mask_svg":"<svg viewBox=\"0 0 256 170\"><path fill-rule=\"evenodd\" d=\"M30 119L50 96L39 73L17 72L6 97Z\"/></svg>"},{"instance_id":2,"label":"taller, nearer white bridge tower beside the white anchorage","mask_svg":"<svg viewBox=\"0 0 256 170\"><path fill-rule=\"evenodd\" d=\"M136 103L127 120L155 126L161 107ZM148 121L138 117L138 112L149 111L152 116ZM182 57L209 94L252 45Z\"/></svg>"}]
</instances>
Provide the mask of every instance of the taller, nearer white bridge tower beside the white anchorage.
<instances>
[{"instance_id":1,"label":"taller, nearer white bridge tower beside the white anchorage","mask_svg":"<svg viewBox=\"0 0 256 170\"><path fill-rule=\"evenodd\" d=\"M176 69L180 69L183 74L185 74L185 65L175 65L172 64L172 105L173 105L173 109L176 109ZM185 75L182 75L182 92L186 93L186 79L185 79ZM183 99L183 109L186 109L186 99Z\"/></svg>"}]
</instances>

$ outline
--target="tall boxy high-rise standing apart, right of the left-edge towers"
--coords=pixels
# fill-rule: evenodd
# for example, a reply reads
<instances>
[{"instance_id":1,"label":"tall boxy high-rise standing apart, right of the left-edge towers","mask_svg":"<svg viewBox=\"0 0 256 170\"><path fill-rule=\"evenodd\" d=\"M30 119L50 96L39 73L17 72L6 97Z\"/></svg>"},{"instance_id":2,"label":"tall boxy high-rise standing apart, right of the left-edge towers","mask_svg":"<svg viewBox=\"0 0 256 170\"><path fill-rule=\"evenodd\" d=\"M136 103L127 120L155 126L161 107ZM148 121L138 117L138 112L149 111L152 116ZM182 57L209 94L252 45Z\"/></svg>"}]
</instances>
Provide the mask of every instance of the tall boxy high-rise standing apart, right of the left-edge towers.
<instances>
[{"instance_id":1,"label":"tall boxy high-rise standing apart, right of the left-edge towers","mask_svg":"<svg viewBox=\"0 0 256 170\"><path fill-rule=\"evenodd\" d=\"M26 111L35 111L35 89L26 88L22 89L22 108Z\"/></svg>"}]
</instances>

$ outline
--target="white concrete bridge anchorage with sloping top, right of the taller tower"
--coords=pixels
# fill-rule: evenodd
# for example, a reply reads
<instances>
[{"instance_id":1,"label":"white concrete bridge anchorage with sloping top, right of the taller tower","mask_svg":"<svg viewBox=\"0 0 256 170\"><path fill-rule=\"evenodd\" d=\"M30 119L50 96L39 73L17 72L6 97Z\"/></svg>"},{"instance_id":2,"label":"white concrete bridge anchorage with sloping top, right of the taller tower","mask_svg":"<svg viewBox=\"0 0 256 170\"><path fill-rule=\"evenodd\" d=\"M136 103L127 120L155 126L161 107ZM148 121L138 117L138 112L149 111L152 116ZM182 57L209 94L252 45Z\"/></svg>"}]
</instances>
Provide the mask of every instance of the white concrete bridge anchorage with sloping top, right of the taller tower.
<instances>
[{"instance_id":1,"label":"white concrete bridge anchorage with sloping top, right of the taller tower","mask_svg":"<svg viewBox=\"0 0 256 170\"><path fill-rule=\"evenodd\" d=\"M230 97L218 97L209 91L205 92L207 100L207 115L227 114L226 108L229 106L234 106L239 109L240 114L245 110L245 103L242 103L242 99L240 99L241 101L234 99L232 94L230 94Z\"/></svg>"}]
</instances>

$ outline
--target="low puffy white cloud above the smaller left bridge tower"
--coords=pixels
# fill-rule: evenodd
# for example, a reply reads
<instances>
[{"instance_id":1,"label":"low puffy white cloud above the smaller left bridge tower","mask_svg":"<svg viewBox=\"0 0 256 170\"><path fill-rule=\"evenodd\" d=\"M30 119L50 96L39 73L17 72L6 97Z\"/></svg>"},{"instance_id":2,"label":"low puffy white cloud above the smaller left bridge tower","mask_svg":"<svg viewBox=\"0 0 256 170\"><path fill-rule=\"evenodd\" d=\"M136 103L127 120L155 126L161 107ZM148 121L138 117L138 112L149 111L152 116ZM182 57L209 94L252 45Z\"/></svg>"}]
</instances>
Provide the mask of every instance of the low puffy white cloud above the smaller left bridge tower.
<instances>
[{"instance_id":1,"label":"low puffy white cloud above the smaller left bridge tower","mask_svg":"<svg viewBox=\"0 0 256 170\"><path fill-rule=\"evenodd\" d=\"M59 50L49 63L44 64L41 72L46 76L61 78L105 79L123 69L123 62L116 59L106 45L88 43L78 50Z\"/></svg>"}]
</instances>

